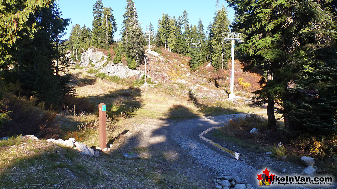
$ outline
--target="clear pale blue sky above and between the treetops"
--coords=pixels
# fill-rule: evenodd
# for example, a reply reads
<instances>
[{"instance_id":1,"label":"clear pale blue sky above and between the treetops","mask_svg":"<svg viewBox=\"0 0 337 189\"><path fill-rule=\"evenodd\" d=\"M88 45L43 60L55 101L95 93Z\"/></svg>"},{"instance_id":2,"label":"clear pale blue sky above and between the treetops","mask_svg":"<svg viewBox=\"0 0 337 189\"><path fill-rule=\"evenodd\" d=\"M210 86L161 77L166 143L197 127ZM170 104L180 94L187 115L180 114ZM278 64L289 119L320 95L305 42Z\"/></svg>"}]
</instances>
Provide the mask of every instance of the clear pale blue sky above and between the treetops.
<instances>
[{"instance_id":1,"label":"clear pale blue sky above and between the treetops","mask_svg":"<svg viewBox=\"0 0 337 189\"><path fill-rule=\"evenodd\" d=\"M202 19L204 30L206 32L209 22L213 21L215 13L215 1L201 1L201 0L167 0L167 1L155 1L155 0L133 0L135 2L136 10L138 13L138 19L141 23L141 27L145 31L147 25L152 23L155 31L157 30L157 21L162 17L162 14L166 12L168 15L175 15L178 18L184 10L188 12L188 20L192 25L197 25L199 18ZM59 0L63 18L70 18L72 23L67 28L67 35L63 39L68 39L70 30L73 25L79 23L81 27L83 25L91 28L91 21L93 18L92 5L96 0ZM117 32L115 37L120 38L121 22L123 20L123 14L125 12L126 0L102 0L104 6L111 6L114 10L114 18L117 22ZM233 20L234 10L227 7L227 3L224 0L219 1L219 6L222 4L228 10L228 18Z\"/></svg>"}]
</instances>

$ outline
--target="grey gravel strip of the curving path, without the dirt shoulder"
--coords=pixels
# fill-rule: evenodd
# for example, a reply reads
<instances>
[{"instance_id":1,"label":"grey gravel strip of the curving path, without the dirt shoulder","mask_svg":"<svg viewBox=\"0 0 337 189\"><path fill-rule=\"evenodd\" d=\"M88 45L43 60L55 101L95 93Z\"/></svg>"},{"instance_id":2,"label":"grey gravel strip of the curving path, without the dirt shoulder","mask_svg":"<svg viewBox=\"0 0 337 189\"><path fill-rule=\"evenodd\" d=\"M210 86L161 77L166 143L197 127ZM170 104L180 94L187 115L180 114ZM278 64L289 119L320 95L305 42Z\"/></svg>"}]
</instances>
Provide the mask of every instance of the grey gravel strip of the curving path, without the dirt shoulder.
<instances>
[{"instance_id":1,"label":"grey gravel strip of the curving path, without the dirt shoulder","mask_svg":"<svg viewBox=\"0 0 337 189\"><path fill-rule=\"evenodd\" d=\"M234 115L242 116L240 114ZM170 124L168 133L170 133L170 138L178 143L187 154L193 156L198 163L208 167L213 174L234 175L238 176L241 181L254 184L256 183L254 175L258 173L258 170L245 162L227 156L199 138L199 133L230 119L233 119L233 114L185 120Z\"/></svg>"}]
</instances>

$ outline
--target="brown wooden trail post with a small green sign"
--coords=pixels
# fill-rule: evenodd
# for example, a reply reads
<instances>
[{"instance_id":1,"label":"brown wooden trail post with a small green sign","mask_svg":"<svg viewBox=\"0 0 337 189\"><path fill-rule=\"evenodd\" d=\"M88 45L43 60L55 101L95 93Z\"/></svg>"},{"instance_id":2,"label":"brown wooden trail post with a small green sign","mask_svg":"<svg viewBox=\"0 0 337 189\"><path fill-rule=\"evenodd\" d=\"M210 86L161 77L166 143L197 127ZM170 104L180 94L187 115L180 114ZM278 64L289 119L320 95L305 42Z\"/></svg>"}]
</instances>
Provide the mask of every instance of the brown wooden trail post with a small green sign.
<instances>
[{"instance_id":1,"label":"brown wooden trail post with a small green sign","mask_svg":"<svg viewBox=\"0 0 337 189\"><path fill-rule=\"evenodd\" d=\"M98 120L99 120L99 147L106 148L106 106L104 103L98 104Z\"/></svg>"}]
</instances>

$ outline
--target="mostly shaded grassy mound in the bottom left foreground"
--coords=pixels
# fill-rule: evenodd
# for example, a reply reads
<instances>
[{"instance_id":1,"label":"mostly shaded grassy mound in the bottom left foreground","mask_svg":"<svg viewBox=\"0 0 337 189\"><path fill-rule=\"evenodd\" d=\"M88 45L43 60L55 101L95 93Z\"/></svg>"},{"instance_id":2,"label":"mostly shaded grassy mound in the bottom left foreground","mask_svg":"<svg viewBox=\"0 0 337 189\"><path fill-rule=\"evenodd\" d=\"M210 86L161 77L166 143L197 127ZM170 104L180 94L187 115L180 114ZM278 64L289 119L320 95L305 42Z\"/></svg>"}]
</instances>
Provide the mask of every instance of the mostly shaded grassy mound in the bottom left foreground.
<instances>
[{"instance_id":1,"label":"mostly shaded grassy mound in the bottom left foreground","mask_svg":"<svg viewBox=\"0 0 337 189\"><path fill-rule=\"evenodd\" d=\"M132 150L151 156L130 161L116 150L93 158L43 141L3 146L0 188L205 188L177 171L179 166L166 161L160 150Z\"/></svg>"}]
</instances>

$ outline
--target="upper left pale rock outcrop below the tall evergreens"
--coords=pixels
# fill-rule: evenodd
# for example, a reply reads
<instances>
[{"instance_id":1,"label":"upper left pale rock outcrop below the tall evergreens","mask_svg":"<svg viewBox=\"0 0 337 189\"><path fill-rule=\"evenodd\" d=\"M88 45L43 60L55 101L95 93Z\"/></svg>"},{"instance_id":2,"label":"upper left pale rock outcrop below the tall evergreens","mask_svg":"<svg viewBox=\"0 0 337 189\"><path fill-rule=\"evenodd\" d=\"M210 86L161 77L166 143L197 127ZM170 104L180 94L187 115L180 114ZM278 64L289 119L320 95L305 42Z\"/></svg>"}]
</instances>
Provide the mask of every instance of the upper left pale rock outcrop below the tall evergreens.
<instances>
[{"instance_id":1,"label":"upper left pale rock outcrop below the tall evergreens","mask_svg":"<svg viewBox=\"0 0 337 189\"><path fill-rule=\"evenodd\" d=\"M81 66L87 67L90 63L93 63L95 67L101 67L108 60L108 57L103 52L94 52L94 50L95 48L89 48L82 53L81 62L79 63Z\"/></svg>"}]
</instances>

